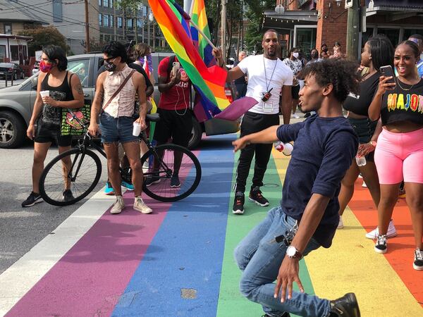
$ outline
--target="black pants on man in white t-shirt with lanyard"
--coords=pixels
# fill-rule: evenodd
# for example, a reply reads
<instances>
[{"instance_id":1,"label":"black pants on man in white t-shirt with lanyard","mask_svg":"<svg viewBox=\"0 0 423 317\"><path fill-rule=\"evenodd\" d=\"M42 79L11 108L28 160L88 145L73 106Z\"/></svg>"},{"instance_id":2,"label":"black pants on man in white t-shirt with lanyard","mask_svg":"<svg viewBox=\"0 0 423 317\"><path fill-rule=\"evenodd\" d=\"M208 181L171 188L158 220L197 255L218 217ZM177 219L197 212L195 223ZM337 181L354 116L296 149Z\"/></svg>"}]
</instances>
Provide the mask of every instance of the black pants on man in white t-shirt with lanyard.
<instances>
[{"instance_id":1,"label":"black pants on man in white t-shirt with lanyard","mask_svg":"<svg viewBox=\"0 0 423 317\"><path fill-rule=\"evenodd\" d=\"M272 125L279 125L278 114L247 112L243 118L243 123L241 123L241 137L262 131ZM255 166L251 188L263 186L264 173L269 162L271 147L273 147L273 144L249 144L241 150L236 171L235 192L245 192L245 184L254 155Z\"/></svg>"}]
</instances>

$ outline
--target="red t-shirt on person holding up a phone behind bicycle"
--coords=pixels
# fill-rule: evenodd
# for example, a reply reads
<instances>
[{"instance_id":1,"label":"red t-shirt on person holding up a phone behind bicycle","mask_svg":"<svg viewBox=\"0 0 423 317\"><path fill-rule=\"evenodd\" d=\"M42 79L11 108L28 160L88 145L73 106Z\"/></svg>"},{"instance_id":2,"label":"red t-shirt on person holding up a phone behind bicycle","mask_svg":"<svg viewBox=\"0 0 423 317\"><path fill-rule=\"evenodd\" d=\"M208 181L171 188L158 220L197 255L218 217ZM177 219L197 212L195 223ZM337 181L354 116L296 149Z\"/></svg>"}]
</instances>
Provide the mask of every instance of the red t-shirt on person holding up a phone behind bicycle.
<instances>
[{"instance_id":1,"label":"red t-shirt on person holding up a phone behind bicycle","mask_svg":"<svg viewBox=\"0 0 423 317\"><path fill-rule=\"evenodd\" d=\"M178 59L175 57L175 61ZM168 74L169 57L165 57L159 63L159 76L168 78L166 82L170 81ZM182 68L182 67L181 67ZM165 110L182 110L190 106L190 82L178 82L167 92L162 92L160 95L159 108Z\"/></svg>"}]
</instances>

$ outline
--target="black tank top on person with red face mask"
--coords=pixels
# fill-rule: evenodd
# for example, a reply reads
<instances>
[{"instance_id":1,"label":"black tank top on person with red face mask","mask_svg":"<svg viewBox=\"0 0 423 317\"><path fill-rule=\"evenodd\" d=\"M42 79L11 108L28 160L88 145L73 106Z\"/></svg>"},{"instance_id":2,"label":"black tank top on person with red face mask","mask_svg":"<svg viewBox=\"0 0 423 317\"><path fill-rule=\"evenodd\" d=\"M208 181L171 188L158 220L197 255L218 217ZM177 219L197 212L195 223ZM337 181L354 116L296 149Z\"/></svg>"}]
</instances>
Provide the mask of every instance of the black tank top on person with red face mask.
<instances>
[{"instance_id":1,"label":"black tank top on person with red face mask","mask_svg":"<svg viewBox=\"0 0 423 317\"><path fill-rule=\"evenodd\" d=\"M63 82L58 87L51 87L49 85L49 73L41 83L42 90L49 90L50 97L57 101L70 101L73 100L73 94L71 85L68 82L68 72L66 71L66 76L63 79ZM71 77L73 74L71 75ZM69 79L71 80L71 78ZM61 123L61 111L62 108L50 106L49 104L44 104L42 108L42 120L44 123L50 125L60 125Z\"/></svg>"}]
</instances>

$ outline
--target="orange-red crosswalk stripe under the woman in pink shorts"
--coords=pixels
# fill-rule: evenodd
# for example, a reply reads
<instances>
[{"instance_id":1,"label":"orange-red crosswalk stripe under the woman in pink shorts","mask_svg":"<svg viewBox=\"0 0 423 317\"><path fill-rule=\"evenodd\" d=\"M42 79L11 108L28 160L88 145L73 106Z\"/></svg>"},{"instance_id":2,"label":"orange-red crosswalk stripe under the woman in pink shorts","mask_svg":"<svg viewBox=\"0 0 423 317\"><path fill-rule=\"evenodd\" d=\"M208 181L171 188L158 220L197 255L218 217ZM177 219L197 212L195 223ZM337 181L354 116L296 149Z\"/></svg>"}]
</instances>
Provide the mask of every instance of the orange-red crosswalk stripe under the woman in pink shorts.
<instances>
[{"instance_id":1,"label":"orange-red crosswalk stripe under the woman in pink shorts","mask_svg":"<svg viewBox=\"0 0 423 317\"><path fill-rule=\"evenodd\" d=\"M374 207L369 190L362 187L361 179L355 182L354 196L348 206L367 232L376 228L377 210ZM384 256L403 280L408 290L417 299L417 302L423 306L423 274L412 268L415 240L410 211L405 199L398 199L393 211L393 223L398 231L398 236L388 240L388 252Z\"/></svg>"}]
</instances>

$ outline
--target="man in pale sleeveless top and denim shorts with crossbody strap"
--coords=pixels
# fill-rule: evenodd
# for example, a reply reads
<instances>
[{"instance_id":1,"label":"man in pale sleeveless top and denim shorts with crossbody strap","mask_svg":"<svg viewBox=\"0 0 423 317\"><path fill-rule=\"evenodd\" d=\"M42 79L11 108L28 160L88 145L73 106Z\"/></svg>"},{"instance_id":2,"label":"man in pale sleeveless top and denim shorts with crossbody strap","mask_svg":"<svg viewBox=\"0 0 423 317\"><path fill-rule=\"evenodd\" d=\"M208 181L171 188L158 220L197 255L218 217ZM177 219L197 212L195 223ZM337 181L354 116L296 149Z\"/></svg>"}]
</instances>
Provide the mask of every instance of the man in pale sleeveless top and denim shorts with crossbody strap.
<instances>
[{"instance_id":1,"label":"man in pale sleeveless top and denim shorts with crossbody strap","mask_svg":"<svg viewBox=\"0 0 423 317\"><path fill-rule=\"evenodd\" d=\"M107 155L109 180L116 195L116 202L110 213L121 213L125 208L121 190L121 174L119 172L118 144L121 142L133 171L132 181L135 187L133 209L141 213L152 213L141 198L142 166L140 161L140 145L137 136L133 135L133 118L135 95L140 99L140 118L136 120L141 130L147 127L145 115L147 103L145 97L145 79L126 64L128 55L125 46L119 42L111 42L103 49L107 72L97 78L97 90L91 109L91 121L88 132L97 135L101 131L104 151ZM100 125L97 118L100 115Z\"/></svg>"}]
</instances>

